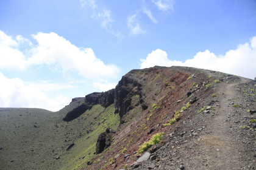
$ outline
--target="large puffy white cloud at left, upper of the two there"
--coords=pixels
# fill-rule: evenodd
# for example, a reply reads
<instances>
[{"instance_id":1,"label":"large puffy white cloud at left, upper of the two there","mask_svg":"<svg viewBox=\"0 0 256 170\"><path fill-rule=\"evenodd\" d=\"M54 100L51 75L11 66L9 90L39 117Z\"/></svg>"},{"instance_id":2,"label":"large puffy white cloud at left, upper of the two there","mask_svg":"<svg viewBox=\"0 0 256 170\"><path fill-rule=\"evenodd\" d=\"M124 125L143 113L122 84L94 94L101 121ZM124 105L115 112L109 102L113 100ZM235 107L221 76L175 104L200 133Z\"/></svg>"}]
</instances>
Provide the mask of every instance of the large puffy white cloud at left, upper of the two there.
<instances>
[{"instance_id":1,"label":"large puffy white cloud at left, upper of the two there","mask_svg":"<svg viewBox=\"0 0 256 170\"><path fill-rule=\"evenodd\" d=\"M62 70L64 75L75 72L85 78L116 77L119 72L114 64L104 64L92 49L76 47L56 33L40 32L32 37L38 44L24 52L19 49L20 36L12 39L0 31L0 68L26 69L46 64Z\"/></svg>"}]
</instances>

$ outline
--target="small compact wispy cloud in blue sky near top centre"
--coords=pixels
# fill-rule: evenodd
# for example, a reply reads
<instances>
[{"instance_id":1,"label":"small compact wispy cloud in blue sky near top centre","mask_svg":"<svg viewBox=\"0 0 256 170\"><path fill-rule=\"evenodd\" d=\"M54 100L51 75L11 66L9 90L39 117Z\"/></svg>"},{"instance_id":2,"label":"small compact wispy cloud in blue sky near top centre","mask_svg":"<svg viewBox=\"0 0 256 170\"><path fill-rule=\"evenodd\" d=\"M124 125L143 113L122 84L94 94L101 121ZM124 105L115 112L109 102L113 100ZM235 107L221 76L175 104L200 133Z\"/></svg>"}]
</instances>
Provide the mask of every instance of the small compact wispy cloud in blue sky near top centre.
<instances>
[{"instance_id":1,"label":"small compact wispy cloud in blue sky near top centre","mask_svg":"<svg viewBox=\"0 0 256 170\"><path fill-rule=\"evenodd\" d=\"M145 33L144 30L141 29L140 23L137 21L137 15L131 15L127 17L127 25L128 28L130 29L130 33L132 35L138 35L141 33Z\"/></svg>"}]
</instances>

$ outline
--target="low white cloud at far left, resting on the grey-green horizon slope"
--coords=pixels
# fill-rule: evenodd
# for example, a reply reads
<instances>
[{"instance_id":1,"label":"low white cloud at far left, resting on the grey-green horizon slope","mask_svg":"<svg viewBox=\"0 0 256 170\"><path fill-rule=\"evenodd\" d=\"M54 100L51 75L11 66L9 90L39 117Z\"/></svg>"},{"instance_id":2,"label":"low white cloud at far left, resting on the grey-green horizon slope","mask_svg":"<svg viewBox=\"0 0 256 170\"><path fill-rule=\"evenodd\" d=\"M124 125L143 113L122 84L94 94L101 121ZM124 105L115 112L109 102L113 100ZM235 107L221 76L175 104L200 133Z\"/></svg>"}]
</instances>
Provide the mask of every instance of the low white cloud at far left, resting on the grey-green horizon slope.
<instances>
[{"instance_id":1,"label":"low white cloud at far left, resting on the grey-green horizon slope","mask_svg":"<svg viewBox=\"0 0 256 170\"><path fill-rule=\"evenodd\" d=\"M1 107L36 107L57 111L71 101L62 95L49 98L35 84L26 83L20 78L6 78L1 72L0 82Z\"/></svg>"}]
</instances>

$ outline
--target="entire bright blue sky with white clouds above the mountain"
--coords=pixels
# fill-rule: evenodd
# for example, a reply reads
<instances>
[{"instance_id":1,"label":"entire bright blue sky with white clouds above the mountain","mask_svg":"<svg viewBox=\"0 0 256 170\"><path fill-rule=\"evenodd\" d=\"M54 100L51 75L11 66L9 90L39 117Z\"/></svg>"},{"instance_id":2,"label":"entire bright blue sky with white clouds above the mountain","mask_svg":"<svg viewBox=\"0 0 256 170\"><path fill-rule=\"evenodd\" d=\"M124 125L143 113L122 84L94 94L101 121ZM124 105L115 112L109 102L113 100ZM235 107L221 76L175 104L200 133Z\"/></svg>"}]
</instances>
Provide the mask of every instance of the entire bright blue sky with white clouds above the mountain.
<instances>
[{"instance_id":1,"label":"entire bright blue sky with white clouds above the mountain","mask_svg":"<svg viewBox=\"0 0 256 170\"><path fill-rule=\"evenodd\" d=\"M256 77L254 0L0 0L0 107L59 110L132 69Z\"/></svg>"}]
</instances>

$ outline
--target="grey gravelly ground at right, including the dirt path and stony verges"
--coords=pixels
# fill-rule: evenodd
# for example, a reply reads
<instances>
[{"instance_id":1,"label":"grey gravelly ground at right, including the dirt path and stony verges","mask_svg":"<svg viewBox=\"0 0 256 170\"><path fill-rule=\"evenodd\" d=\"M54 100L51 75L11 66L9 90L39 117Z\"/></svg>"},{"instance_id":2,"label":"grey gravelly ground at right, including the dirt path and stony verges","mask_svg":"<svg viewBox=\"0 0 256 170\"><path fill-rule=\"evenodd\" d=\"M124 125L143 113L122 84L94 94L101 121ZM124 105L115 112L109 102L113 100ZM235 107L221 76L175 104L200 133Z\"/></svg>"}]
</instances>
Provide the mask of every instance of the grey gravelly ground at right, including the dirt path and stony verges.
<instances>
[{"instance_id":1,"label":"grey gravelly ground at right, including the dirt path and stony verges","mask_svg":"<svg viewBox=\"0 0 256 170\"><path fill-rule=\"evenodd\" d=\"M246 111L249 103L243 93L236 90L237 85L245 82L241 78L219 83L215 91L217 97L202 98L199 107L188 110L189 115L179 122L179 128L172 131L172 137L157 151L162 159L157 169L256 168L255 132L242 128L254 117ZM233 107L232 102L241 107ZM197 113L210 103L215 110ZM250 104L251 109L255 108L255 102ZM149 164L150 161L138 169L145 169Z\"/></svg>"}]
</instances>

